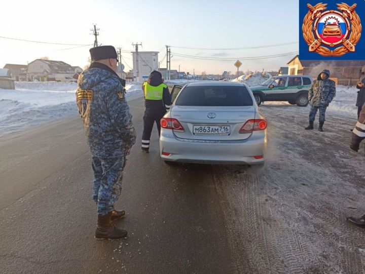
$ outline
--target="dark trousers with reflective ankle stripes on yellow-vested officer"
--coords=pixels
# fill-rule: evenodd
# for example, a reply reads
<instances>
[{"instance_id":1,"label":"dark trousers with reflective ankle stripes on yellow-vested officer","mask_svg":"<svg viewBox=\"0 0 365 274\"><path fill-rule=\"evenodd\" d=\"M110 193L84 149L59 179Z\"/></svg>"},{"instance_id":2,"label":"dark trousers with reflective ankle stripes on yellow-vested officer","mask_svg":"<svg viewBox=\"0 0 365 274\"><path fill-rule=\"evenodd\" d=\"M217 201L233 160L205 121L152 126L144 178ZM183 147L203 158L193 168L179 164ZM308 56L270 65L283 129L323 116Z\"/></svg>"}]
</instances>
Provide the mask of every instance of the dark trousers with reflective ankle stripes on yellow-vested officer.
<instances>
[{"instance_id":1,"label":"dark trousers with reflective ankle stripes on yellow-vested officer","mask_svg":"<svg viewBox=\"0 0 365 274\"><path fill-rule=\"evenodd\" d=\"M142 133L142 148L149 149L151 133L154 123L160 136L161 126L160 120L165 115L166 110L162 108L146 108L143 115L143 133Z\"/></svg>"}]
</instances>

